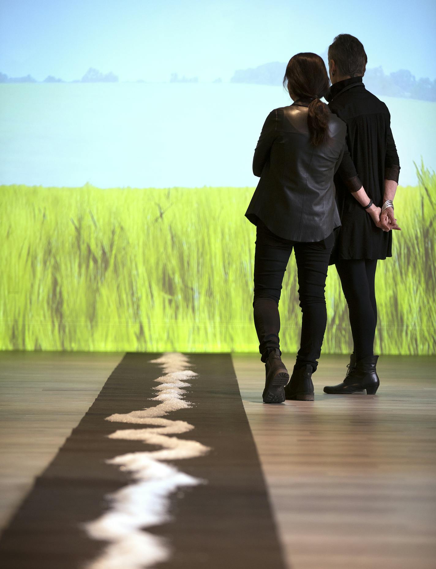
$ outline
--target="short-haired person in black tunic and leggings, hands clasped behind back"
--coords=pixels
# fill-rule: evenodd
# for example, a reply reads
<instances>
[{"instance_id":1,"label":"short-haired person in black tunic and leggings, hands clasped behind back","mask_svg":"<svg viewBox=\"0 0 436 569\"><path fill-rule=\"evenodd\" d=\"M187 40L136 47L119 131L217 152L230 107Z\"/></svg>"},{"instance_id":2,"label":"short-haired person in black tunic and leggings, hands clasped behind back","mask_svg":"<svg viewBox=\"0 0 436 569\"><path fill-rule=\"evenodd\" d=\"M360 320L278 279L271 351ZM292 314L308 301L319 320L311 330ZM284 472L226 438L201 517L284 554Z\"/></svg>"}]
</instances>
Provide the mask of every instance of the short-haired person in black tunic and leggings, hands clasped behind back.
<instances>
[{"instance_id":1,"label":"short-haired person in black tunic and leggings, hands clasped behind back","mask_svg":"<svg viewBox=\"0 0 436 569\"><path fill-rule=\"evenodd\" d=\"M377 261L392 256L392 231L400 229L393 216L400 162L392 137L391 117L384 102L365 89L362 76L367 56L362 43L348 34L329 47L333 85L326 95L331 112L347 123L347 176L335 176L341 229L331 258L341 279L350 314L354 352L345 380L326 386L326 393L374 394L379 386L378 356L373 344L377 324L375 273ZM366 215L359 199L365 188L371 203L381 206L380 223ZM362 205L360 205L362 204Z\"/></svg>"}]
</instances>

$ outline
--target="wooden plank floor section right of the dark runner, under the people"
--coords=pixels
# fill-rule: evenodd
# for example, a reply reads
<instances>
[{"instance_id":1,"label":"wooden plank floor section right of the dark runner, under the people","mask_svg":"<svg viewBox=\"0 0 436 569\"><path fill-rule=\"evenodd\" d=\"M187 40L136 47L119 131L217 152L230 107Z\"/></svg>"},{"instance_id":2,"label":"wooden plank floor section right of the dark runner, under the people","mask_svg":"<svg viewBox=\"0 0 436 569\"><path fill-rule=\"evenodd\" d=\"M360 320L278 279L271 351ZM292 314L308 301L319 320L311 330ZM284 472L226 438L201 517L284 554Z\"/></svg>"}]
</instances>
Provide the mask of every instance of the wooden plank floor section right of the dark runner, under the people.
<instances>
[{"instance_id":1,"label":"wooden plank floor section right of the dark runner, under the people","mask_svg":"<svg viewBox=\"0 0 436 569\"><path fill-rule=\"evenodd\" d=\"M436 358L381 357L367 396L324 394L347 358L322 356L315 401L283 405L257 354L233 360L289 566L434 569Z\"/></svg>"}]
</instances>

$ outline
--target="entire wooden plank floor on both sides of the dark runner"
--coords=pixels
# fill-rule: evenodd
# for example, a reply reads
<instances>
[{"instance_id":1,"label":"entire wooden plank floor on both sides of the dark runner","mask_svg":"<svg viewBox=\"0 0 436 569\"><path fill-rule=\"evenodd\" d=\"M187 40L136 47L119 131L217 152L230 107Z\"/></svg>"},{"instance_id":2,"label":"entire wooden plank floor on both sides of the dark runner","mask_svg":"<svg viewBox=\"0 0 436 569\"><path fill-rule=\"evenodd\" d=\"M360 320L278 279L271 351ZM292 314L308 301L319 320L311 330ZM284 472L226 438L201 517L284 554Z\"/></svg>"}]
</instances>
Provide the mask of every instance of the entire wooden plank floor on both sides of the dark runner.
<instances>
[{"instance_id":1,"label":"entire wooden plank floor on both sides of the dark runner","mask_svg":"<svg viewBox=\"0 0 436 569\"><path fill-rule=\"evenodd\" d=\"M121 357L0 352L0 527ZM323 394L346 358L322 356L315 401L275 406L259 356L233 361L289 567L434 569L436 358L380 358L367 397Z\"/></svg>"}]
</instances>

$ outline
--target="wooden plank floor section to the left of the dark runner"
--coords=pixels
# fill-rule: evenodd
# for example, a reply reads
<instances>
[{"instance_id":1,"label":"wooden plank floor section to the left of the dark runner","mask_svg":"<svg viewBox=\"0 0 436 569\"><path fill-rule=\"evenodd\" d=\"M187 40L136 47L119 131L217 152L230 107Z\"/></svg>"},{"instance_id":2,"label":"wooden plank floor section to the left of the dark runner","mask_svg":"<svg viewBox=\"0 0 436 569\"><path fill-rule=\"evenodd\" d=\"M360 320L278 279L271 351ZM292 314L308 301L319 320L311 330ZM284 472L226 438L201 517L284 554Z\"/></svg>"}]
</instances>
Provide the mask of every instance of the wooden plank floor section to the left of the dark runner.
<instances>
[{"instance_id":1,"label":"wooden plank floor section to the left of the dark runner","mask_svg":"<svg viewBox=\"0 0 436 569\"><path fill-rule=\"evenodd\" d=\"M123 355L0 352L0 530Z\"/></svg>"}]
</instances>

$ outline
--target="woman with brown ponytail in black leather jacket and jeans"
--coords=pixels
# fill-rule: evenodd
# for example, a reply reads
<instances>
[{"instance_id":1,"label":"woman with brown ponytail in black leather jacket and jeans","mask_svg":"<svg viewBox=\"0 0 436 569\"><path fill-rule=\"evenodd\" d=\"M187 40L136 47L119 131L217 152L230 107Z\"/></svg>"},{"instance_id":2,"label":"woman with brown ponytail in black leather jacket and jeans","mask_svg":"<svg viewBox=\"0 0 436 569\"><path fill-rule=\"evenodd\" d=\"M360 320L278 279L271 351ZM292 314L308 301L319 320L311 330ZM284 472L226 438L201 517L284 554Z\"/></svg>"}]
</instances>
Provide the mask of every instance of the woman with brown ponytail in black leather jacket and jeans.
<instances>
[{"instance_id":1,"label":"woman with brown ponytail in black leather jacket and jeans","mask_svg":"<svg viewBox=\"0 0 436 569\"><path fill-rule=\"evenodd\" d=\"M261 361L265 363L265 403L314 399L312 374L327 322L327 267L333 232L341 225L333 176L343 158L351 160L345 143L346 124L321 101L329 90L321 57L315 53L294 55L283 84L294 102L273 110L264 123L253 160L253 172L260 180L246 212L256 225L253 308ZM292 249L302 328L289 380L280 357L279 300Z\"/></svg>"}]
</instances>

